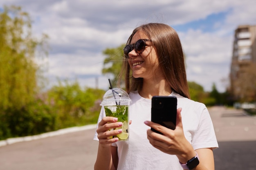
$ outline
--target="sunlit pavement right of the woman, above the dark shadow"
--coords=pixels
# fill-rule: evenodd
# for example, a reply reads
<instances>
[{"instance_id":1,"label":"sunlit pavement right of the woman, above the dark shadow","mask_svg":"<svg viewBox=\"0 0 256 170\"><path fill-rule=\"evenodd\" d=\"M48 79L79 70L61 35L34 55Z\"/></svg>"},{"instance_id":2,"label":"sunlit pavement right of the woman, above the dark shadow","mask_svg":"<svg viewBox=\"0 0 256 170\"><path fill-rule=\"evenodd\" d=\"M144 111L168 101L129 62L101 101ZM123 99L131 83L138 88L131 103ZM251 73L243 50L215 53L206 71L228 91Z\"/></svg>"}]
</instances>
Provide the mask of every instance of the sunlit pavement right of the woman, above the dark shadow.
<instances>
[{"instance_id":1,"label":"sunlit pavement right of the woman, above the dark shadow","mask_svg":"<svg viewBox=\"0 0 256 170\"><path fill-rule=\"evenodd\" d=\"M256 116L225 107L211 107L209 113L218 142L256 140Z\"/></svg>"}]
</instances>

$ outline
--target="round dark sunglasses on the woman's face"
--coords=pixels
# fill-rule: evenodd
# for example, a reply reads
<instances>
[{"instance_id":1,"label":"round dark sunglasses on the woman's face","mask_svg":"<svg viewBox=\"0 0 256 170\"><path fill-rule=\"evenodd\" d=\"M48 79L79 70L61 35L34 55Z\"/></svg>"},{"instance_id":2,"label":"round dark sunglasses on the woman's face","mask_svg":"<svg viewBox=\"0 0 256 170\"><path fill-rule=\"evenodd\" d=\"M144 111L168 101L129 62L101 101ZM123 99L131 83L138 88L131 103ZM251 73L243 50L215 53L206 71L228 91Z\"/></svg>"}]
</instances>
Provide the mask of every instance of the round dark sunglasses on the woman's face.
<instances>
[{"instance_id":1,"label":"round dark sunglasses on the woman's face","mask_svg":"<svg viewBox=\"0 0 256 170\"><path fill-rule=\"evenodd\" d=\"M148 46L146 45L146 41L150 41L149 39L139 39L138 41L135 42L135 44L129 44L124 47L124 56L126 59L129 59L129 52L131 52L133 49L137 53L141 53L145 50L145 47Z\"/></svg>"}]
</instances>

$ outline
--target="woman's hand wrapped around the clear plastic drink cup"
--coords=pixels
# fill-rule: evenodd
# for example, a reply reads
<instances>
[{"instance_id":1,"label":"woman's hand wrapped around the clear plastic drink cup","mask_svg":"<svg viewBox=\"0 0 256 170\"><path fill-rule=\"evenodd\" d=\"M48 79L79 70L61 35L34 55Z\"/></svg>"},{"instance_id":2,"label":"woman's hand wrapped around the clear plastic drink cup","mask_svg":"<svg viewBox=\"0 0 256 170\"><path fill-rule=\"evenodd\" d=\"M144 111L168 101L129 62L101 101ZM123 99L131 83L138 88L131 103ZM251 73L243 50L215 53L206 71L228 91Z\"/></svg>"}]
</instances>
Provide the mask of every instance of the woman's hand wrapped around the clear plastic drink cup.
<instances>
[{"instance_id":1,"label":"woman's hand wrapped around the clear plastic drink cup","mask_svg":"<svg viewBox=\"0 0 256 170\"><path fill-rule=\"evenodd\" d=\"M111 136L122 133L122 129L109 131L109 129L118 128L123 125L122 122L117 122L117 118L104 117L100 122L97 129L99 144L103 147L109 147L112 143L118 141L118 137L110 138Z\"/></svg>"}]
</instances>

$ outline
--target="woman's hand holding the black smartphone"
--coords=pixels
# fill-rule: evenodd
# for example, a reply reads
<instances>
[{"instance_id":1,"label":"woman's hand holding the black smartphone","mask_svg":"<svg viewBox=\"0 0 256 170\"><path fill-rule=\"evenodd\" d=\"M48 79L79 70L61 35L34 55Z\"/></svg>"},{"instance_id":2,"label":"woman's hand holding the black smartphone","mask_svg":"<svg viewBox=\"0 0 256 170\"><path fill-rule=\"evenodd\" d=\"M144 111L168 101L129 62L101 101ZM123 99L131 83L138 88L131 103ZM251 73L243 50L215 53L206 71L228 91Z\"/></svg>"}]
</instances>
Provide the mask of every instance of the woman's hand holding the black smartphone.
<instances>
[{"instance_id":1,"label":"woman's hand holding the black smartphone","mask_svg":"<svg viewBox=\"0 0 256 170\"><path fill-rule=\"evenodd\" d=\"M185 138L182 126L181 108L177 109L176 129L168 129L160 124L145 121L144 123L153 129L162 132L163 135L147 130L150 144L164 153L177 155L180 162L186 162L188 158L195 156L195 151Z\"/></svg>"}]
</instances>

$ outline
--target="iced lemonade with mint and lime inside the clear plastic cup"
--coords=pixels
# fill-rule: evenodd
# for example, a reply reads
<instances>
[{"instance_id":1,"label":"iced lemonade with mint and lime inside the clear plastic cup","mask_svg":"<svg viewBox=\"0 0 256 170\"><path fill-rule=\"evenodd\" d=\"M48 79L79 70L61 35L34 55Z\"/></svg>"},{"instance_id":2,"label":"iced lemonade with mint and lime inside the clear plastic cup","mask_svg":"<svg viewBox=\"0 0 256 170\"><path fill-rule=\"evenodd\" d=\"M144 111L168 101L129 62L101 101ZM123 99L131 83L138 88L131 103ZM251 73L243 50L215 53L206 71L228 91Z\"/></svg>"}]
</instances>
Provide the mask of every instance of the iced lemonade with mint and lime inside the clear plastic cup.
<instances>
[{"instance_id":1,"label":"iced lemonade with mint and lime inside the clear plastic cup","mask_svg":"<svg viewBox=\"0 0 256 170\"><path fill-rule=\"evenodd\" d=\"M118 128L109 129L116 130L122 129L122 133L111 136L110 138L118 137L119 141L125 141L129 139L129 122L128 122L128 105L111 105L104 106L106 116L118 118L118 122L123 122L123 125Z\"/></svg>"}]
</instances>

